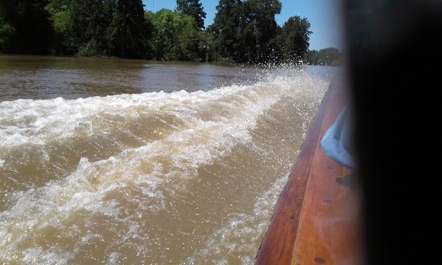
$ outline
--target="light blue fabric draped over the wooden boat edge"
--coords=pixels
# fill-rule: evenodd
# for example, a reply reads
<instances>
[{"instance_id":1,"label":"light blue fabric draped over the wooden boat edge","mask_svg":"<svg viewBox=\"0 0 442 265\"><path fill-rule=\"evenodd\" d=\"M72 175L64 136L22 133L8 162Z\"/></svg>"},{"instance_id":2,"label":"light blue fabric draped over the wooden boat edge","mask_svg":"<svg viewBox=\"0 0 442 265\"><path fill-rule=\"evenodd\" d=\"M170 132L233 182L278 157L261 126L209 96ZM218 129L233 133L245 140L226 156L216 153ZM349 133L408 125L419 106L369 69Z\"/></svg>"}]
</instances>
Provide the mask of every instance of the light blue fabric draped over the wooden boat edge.
<instances>
[{"instance_id":1,"label":"light blue fabric draped over the wooden boat edge","mask_svg":"<svg viewBox=\"0 0 442 265\"><path fill-rule=\"evenodd\" d=\"M350 113L348 103L344 105L334 121L333 125L325 132L323 139L321 139L321 146L325 154L334 161L354 169L354 161L351 156L351 126Z\"/></svg>"}]
</instances>

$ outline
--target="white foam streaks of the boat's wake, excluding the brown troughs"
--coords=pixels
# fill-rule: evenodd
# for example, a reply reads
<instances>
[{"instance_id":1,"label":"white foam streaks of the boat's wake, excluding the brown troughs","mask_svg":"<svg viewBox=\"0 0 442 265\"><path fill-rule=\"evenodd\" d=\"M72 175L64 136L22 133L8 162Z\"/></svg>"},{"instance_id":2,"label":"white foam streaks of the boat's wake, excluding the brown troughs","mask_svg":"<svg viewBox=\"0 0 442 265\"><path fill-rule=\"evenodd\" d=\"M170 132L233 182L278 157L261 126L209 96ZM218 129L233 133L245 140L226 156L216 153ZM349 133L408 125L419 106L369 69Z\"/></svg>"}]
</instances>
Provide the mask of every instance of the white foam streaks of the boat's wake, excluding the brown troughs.
<instances>
[{"instance_id":1,"label":"white foam streaks of the boat's wake, excluding the brown troughs","mask_svg":"<svg viewBox=\"0 0 442 265\"><path fill-rule=\"evenodd\" d=\"M140 209L155 213L166 204L159 184L176 178L194 178L202 165L210 165L227 156L239 144L251 143L250 132L257 126L258 118L282 98L302 97L318 103L326 89L327 82L300 73L296 77L269 75L253 85L233 85L210 91L160 91L77 100L55 98L0 103L0 151L62 143L78 135L87 138L112 133L112 124L119 121L115 117L126 121L147 113L161 113L179 121L168 124L173 128L170 133L142 146L124 149L103 160L81 158L75 171L65 178L50 181L40 188L11 192L9 208L0 213L0 248L3 250L0 259L14 253L17 244L31 240L42 227L62 227L62 223L79 210L90 215L112 216L115 222L121 221L131 227L124 236L136 234L134 231L140 229L137 225L119 220L118 199L112 195L118 193L128 201L135 200L130 193L124 193L135 187L145 196L137 202ZM1 159L0 166L5 162ZM146 167L149 170L145 170ZM170 187L172 190L179 188L182 187ZM256 214L267 211L261 200L258 199ZM229 224L214 235L214 241L207 242L211 251L216 251L219 240L226 248L237 248L240 239L232 241L228 233L251 233L247 225L250 218L254 217L233 216ZM230 236L230 239L223 241L223 236ZM82 239L87 241L87 236ZM65 252L57 258L63 260L75 252L60 251ZM43 253L40 248L28 248L24 259L40 257L40 261L47 261L55 259L54 255ZM113 252L110 260L117 258L118 253ZM243 260L251 262L249 257ZM223 259L219 262L223 264Z\"/></svg>"}]
</instances>

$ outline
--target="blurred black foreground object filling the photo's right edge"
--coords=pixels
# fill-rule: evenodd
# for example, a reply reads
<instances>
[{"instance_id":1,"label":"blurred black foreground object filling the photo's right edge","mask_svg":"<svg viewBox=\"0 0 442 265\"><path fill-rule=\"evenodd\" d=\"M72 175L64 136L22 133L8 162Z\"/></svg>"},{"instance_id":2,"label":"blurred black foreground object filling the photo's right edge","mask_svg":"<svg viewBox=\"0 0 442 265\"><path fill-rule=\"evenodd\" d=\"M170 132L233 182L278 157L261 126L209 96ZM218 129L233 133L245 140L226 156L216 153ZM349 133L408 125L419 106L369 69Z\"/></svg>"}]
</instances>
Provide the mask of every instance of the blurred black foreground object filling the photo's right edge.
<instances>
[{"instance_id":1,"label":"blurred black foreground object filling the photo's right edge","mask_svg":"<svg viewBox=\"0 0 442 265\"><path fill-rule=\"evenodd\" d=\"M442 1L343 8L366 264L440 264Z\"/></svg>"}]
</instances>

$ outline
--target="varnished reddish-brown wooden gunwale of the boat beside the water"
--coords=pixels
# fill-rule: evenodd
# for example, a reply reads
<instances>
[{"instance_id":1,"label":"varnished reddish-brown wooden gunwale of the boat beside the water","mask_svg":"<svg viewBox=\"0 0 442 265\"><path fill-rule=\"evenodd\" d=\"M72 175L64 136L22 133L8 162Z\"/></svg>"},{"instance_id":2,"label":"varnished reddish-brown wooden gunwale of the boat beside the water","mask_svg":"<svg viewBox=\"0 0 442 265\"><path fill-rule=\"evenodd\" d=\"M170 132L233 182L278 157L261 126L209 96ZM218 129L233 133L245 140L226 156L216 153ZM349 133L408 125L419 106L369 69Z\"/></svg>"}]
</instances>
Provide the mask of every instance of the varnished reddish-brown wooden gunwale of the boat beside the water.
<instances>
[{"instance_id":1,"label":"varnished reddish-brown wooden gunwale of the boat beside the water","mask_svg":"<svg viewBox=\"0 0 442 265\"><path fill-rule=\"evenodd\" d=\"M275 207L256 265L361 264L359 190L339 183L351 170L328 158L321 148L321 139L347 95L339 80L325 92Z\"/></svg>"}]
</instances>

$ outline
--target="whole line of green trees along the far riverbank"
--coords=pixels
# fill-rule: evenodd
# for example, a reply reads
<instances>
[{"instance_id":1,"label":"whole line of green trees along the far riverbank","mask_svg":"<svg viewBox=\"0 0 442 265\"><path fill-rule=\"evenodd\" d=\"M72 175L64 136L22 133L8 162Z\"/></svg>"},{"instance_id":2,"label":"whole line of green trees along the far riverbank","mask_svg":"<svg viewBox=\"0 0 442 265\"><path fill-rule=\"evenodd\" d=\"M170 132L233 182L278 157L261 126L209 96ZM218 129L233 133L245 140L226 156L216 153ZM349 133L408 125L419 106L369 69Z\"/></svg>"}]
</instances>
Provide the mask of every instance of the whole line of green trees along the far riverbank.
<instances>
[{"instance_id":1,"label":"whole line of green trees along the far riverbank","mask_svg":"<svg viewBox=\"0 0 442 265\"><path fill-rule=\"evenodd\" d=\"M144 10L142 0L0 0L0 52L129 59L339 65L339 50L309 51L310 23L280 27L279 0L219 0L204 26L199 0Z\"/></svg>"}]
</instances>

